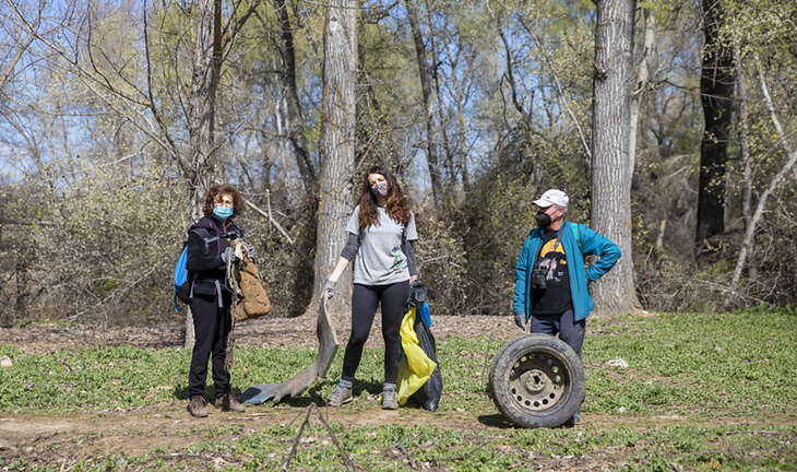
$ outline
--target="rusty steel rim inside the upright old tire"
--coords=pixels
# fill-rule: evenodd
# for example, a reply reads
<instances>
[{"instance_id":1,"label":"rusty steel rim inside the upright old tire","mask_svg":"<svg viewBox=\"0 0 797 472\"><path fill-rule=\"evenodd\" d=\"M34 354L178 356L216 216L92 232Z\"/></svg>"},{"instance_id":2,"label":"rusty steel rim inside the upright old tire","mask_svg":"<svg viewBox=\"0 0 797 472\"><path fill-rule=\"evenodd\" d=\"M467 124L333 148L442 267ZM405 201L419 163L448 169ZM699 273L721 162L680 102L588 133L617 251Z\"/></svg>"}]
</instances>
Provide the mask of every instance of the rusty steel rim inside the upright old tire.
<instances>
[{"instance_id":1,"label":"rusty steel rim inside the upright old tire","mask_svg":"<svg viewBox=\"0 0 797 472\"><path fill-rule=\"evenodd\" d=\"M522 354L509 371L512 401L530 411L546 411L563 402L570 375L563 359L548 352Z\"/></svg>"}]
</instances>

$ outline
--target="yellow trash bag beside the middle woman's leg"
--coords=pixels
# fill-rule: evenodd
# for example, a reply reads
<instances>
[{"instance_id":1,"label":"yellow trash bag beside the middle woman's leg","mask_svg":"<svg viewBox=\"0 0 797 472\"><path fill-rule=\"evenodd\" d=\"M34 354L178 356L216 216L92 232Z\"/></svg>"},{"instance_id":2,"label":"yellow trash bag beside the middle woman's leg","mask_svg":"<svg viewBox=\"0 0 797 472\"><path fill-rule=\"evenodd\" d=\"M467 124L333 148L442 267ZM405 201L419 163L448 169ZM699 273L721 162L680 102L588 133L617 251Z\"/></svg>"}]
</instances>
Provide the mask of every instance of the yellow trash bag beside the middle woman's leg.
<instances>
[{"instance_id":1,"label":"yellow trash bag beside the middle woman's leg","mask_svg":"<svg viewBox=\"0 0 797 472\"><path fill-rule=\"evenodd\" d=\"M400 406L403 406L413 393L424 387L437 367L437 364L420 349L418 334L415 332L416 310L416 307L409 308L402 320L402 349L406 358L402 356L398 362L396 401Z\"/></svg>"}]
</instances>

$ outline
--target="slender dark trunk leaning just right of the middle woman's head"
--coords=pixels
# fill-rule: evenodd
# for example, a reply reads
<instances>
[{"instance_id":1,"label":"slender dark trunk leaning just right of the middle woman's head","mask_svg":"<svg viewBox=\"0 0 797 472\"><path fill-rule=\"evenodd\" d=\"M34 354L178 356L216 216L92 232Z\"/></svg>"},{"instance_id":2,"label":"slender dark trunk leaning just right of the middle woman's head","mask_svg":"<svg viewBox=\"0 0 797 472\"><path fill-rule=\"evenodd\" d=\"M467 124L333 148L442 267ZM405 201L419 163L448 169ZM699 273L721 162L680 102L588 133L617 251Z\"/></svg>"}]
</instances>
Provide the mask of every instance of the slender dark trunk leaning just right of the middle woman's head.
<instances>
[{"instance_id":1,"label":"slender dark trunk leaning just right of the middle woman's head","mask_svg":"<svg viewBox=\"0 0 797 472\"><path fill-rule=\"evenodd\" d=\"M426 47L424 46L424 36L420 33L420 22L418 21L418 5L414 0L405 0L407 7L407 20L413 31L413 39L415 40L415 56L418 60L418 71L420 73L420 88L424 98L424 119L426 120L427 150L426 161L429 164L429 178L431 179L431 191L435 198L435 205L440 208L443 201L442 178L440 176L440 163L438 158L437 142L435 139L435 110L431 93L431 67L426 60Z\"/></svg>"}]
</instances>

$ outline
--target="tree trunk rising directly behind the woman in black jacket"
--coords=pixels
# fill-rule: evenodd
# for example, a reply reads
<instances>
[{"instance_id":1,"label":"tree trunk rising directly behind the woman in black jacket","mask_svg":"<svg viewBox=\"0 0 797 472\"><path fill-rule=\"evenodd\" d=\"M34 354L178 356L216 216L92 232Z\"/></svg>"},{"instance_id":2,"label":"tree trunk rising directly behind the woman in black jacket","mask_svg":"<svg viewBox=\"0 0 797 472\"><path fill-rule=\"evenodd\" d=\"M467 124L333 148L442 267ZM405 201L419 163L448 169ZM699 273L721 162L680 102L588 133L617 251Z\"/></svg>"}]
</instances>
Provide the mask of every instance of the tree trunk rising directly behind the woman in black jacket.
<instances>
[{"instance_id":1,"label":"tree trunk rising directly behind the woman in black jacket","mask_svg":"<svg viewBox=\"0 0 797 472\"><path fill-rule=\"evenodd\" d=\"M192 222L202 217L202 203L211 186L215 151L215 103L222 68L222 0L200 0L197 9L191 96L188 101L188 132L191 146L189 192ZM193 317L186 314L183 346L194 343Z\"/></svg>"}]
</instances>

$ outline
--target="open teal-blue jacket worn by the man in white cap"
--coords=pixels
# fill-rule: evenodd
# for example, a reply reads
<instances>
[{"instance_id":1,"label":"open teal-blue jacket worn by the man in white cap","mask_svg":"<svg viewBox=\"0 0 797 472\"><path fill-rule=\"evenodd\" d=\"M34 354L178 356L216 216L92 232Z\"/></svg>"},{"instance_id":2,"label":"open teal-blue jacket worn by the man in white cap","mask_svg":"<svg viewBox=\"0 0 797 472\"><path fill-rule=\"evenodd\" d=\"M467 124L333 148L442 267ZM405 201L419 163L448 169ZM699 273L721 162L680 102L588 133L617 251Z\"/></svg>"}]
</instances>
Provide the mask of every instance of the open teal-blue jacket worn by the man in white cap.
<instances>
[{"instance_id":1,"label":"open teal-blue jacket worn by the man in white cap","mask_svg":"<svg viewBox=\"0 0 797 472\"><path fill-rule=\"evenodd\" d=\"M600 279L603 274L608 272L620 259L620 248L611 243L609 238L603 236L588 226L579 224L578 234L581 241L576 240L576 231L573 226L575 223L564 222L568 227L562 231L562 246L564 256L568 260L568 274L570 275L570 295L573 298L573 314L575 320L582 320L590 316L595 308L590 292L586 290L586 281L595 281ZM526 240L523 243L523 249L518 258L515 266L515 284L514 284L514 306L515 314L525 314L526 319L532 316L532 297L528 282L534 267L534 259L539 252L539 245L543 243L543 229L534 228L528 233ZM579 256L581 255L581 256ZM584 257L599 256L595 264L584 270Z\"/></svg>"}]
</instances>

